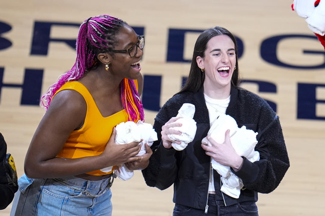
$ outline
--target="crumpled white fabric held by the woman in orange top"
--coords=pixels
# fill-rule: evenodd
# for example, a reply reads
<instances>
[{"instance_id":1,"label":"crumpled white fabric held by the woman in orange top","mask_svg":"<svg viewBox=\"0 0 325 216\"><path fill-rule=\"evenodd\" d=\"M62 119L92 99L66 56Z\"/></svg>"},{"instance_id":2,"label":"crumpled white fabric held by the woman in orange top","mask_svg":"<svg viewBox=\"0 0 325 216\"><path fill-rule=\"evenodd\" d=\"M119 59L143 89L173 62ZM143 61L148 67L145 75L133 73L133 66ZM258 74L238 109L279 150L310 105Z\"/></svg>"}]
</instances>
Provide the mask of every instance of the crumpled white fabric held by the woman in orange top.
<instances>
[{"instance_id":1,"label":"crumpled white fabric held by the woman in orange top","mask_svg":"<svg viewBox=\"0 0 325 216\"><path fill-rule=\"evenodd\" d=\"M117 144L126 144L130 142L139 142L143 139L141 144L140 152L137 155L143 155L146 153L145 143L149 146L157 138L156 131L152 128L152 125L149 123L144 123L141 120L138 120L137 123L133 121L122 122L115 127L116 137L115 142ZM103 172L110 172L112 170L112 166L101 169ZM120 164L115 166L114 173L117 177L122 180L129 180L134 175L133 170L129 170L124 164Z\"/></svg>"}]
</instances>

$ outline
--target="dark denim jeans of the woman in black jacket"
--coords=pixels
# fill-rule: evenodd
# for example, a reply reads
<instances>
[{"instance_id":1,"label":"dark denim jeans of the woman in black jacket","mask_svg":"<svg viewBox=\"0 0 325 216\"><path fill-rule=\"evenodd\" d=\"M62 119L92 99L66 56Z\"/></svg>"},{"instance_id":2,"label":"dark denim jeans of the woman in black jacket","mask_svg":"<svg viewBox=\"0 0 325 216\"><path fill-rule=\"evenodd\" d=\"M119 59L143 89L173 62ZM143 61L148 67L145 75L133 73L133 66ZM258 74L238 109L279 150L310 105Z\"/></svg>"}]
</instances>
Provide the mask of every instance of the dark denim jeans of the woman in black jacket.
<instances>
[{"instance_id":1,"label":"dark denim jeans of the woman in black jacket","mask_svg":"<svg viewBox=\"0 0 325 216\"><path fill-rule=\"evenodd\" d=\"M258 216L257 206L254 201L225 206L223 200L215 200L215 195L209 194L208 206L208 212L205 213L205 210L175 204L173 216Z\"/></svg>"}]
</instances>

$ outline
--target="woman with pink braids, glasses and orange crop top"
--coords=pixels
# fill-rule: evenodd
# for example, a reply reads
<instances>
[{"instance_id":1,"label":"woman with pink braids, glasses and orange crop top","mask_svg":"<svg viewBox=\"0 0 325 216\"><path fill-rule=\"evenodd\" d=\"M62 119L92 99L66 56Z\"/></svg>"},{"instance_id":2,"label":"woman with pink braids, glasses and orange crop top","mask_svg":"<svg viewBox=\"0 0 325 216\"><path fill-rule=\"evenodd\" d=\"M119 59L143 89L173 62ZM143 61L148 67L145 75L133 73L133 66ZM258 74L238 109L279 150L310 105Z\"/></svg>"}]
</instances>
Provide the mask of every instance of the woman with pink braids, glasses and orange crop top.
<instances>
[{"instance_id":1,"label":"woman with pink braids, glasses and orange crop top","mask_svg":"<svg viewBox=\"0 0 325 216\"><path fill-rule=\"evenodd\" d=\"M76 62L41 98L46 112L32 138L10 215L111 215L113 171L144 169L152 151L118 145L115 126L144 120L140 59L144 36L123 20L90 17L80 26Z\"/></svg>"}]
</instances>

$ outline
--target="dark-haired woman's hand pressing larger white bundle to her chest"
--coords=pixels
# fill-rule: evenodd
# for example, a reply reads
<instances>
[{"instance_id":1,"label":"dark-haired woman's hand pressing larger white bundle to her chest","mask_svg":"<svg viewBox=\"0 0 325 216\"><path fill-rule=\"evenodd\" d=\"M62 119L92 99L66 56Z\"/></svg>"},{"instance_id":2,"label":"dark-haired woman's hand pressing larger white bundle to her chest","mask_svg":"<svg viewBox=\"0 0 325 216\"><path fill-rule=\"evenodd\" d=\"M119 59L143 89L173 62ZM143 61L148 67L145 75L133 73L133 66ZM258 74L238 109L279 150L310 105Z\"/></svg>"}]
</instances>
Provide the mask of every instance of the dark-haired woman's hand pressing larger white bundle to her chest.
<instances>
[{"instance_id":1,"label":"dark-haired woman's hand pressing larger white bundle to her chest","mask_svg":"<svg viewBox=\"0 0 325 216\"><path fill-rule=\"evenodd\" d=\"M235 152L231 145L229 131L225 133L225 141L217 143L210 136L207 136L208 141L212 146L201 143L206 155L211 156L216 162L224 166L231 166L235 171L241 168L243 159Z\"/></svg>"}]
</instances>

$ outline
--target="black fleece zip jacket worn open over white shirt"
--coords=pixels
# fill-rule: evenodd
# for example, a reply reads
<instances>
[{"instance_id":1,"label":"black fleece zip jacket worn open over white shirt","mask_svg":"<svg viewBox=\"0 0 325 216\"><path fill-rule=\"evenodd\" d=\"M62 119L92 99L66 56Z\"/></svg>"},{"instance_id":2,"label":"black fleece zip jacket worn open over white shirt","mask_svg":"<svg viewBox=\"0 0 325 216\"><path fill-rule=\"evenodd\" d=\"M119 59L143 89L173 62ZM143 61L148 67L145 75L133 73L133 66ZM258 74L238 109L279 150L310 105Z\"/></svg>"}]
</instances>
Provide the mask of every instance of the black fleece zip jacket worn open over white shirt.
<instances>
[{"instance_id":1,"label":"black fleece zip jacket worn open over white shirt","mask_svg":"<svg viewBox=\"0 0 325 216\"><path fill-rule=\"evenodd\" d=\"M161 143L162 126L184 103L195 105L193 119L197 122L197 131L193 142L183 151L165 149ZM226 114L233 117L238 126L246 126L258 132L255 151L260 160L254 163L243 157L243 165L237 172L244 184L238 199L220 191L220 175L214 170L214 188L216 197L225 204L233 205L242 201L257 201L257 192L269 193L278 187L289 168L289 158L284 143L279 117L264 99L245 89L231 87L231 96ZM173 201L197 209L205 209L208 188L210 157L201 147L201 140L210 129L208 109L205 104L203 87L196 92L183 92L169 99L158 112L153 128L158 141L151 146L153 154L149 165L142 170L146 184L161 190L174 184Z\"/></svg>"}]
</instances>

